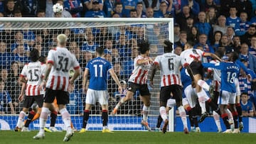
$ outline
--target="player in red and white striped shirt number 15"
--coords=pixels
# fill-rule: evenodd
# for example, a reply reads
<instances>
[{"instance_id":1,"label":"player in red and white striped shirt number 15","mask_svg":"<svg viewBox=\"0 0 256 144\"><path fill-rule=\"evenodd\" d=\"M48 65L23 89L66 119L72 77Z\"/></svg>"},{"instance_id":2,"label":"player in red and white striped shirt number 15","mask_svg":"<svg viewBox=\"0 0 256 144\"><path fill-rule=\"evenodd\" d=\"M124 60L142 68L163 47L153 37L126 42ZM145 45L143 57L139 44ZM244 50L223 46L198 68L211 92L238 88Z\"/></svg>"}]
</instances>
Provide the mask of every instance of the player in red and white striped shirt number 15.
<instances>
[{"instance_id":1,"label":"player in red and white striped shirt number 15","mask_svg":"<svg viewBox=\"0 0 256 144\"><path fill-rule=\"evenodd\" d=\"M24 65L23 70L21 72L21 82L23 82L24 86L21 89L21 95L18 97L19 100L22 100L25 92L26 85L26 98L23 103L23 109L19 113L18 122L15 128L15 131L19 131L21 129L21 124L23 123L23 118L28 112L28 108L30 108L34 101L38 104L39 109L43 106L43 91L39 89L41 84L43 73L45 72L46 65L41 64L38 61L39 52L36 49L31 50L30 52L31 62ZM41 111L39 110L38 113ZM28 131L28 125L35 116L36 113L31 111L28 114L28 119L25 123L25 127L23 127L22 131Z\"/></svg>"}]
</instances>

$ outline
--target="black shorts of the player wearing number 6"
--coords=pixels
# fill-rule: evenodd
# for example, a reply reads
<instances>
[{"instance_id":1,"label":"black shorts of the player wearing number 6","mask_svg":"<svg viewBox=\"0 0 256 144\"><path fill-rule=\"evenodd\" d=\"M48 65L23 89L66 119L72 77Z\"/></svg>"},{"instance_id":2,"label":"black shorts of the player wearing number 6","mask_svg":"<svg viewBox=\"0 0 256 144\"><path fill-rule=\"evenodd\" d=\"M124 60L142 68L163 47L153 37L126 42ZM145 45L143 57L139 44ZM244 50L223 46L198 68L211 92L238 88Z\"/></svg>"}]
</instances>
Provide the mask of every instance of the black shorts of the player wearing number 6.
<instances>
[{"instance_id":1,"label":"black shorts of the player wearing number 6","mask_svg":"<svg viewBox=\"0 0 256 144\"><path fill-rule=\"evenodd\" d=\"M173 94L176 102L182 101L182 87L178 84L161 87L160 101L167 103L167 100L171 98L171 93Z\"/></svg>"}]
</instances>

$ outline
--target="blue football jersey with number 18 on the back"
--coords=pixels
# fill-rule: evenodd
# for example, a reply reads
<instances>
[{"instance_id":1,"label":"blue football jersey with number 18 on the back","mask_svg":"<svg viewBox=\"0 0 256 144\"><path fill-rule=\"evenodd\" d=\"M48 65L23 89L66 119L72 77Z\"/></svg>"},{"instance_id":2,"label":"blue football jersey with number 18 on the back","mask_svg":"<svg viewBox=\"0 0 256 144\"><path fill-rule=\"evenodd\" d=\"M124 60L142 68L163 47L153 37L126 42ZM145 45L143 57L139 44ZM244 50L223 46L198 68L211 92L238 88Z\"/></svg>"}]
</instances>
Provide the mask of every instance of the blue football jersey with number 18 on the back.
<instances>
[{"instance_id":1,"label":"blue football jersey with number 18 on the back","mask_svg":"<svg viewBox=\"0 0 256 144\"><path fill-rule=\"evenodd\" d=\"M235 93L235 78L238 77L240 66L234 62L203 63L203 67L221 70L220 89Z\"/></svg>"}]
</instances>

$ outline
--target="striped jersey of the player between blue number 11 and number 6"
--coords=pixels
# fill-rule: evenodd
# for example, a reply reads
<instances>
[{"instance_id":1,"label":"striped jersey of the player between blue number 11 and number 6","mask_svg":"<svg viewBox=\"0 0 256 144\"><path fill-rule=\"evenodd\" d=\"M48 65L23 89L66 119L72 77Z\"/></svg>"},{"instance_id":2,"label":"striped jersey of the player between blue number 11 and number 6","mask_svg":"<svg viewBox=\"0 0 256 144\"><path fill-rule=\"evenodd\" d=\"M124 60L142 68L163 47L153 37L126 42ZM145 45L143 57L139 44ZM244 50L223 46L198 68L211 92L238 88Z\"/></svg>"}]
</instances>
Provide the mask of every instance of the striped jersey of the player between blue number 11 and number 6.
<instances>
[{"instance_id":1,"label":"striped jersey of the player between blue number 11 and number 6","mask_svg":"<svg viewBox=\"0 0 256 144\"><path fill-rule=\"evenodd\" d=\"M144 59L146 59L146 57L142 57L141 55L134 59L134 70L132 71L131 77L129 77L129 82L133 82L135 84L146 84L151 64L149 62L142 65L137 64L138 60Z\"/></svg>"}]
</instances>

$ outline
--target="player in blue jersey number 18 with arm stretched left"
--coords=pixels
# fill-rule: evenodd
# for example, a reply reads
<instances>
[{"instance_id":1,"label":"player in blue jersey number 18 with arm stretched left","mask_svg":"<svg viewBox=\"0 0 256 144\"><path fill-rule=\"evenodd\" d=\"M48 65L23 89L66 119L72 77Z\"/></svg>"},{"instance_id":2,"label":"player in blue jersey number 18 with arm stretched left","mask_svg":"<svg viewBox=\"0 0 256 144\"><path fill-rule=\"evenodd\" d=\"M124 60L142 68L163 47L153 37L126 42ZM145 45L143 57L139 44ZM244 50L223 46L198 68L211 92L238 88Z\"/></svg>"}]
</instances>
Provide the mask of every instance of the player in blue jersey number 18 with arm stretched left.
<instances>
[{"instance_id":1,"label":"player in blue jersey number 18 with arm stretched left","mask_svg":"<svg viewBox=\"0 0 256 144\"><path fill-rule=\"evenodd\" d=\"M238 54L236 52L231 52L228 58L228 62L218 62L216 64L203 63L203 67L213 67L218 70L221 70L221 82L220 82L220 97L218 99L218 104L220 105L220 113L223 118L223 122L227 130L223 133L239 133L239 129L232 131L230 129L230 123L234 123L233 118L230 118L228 121L228 104L230 104L230 111L233 116L238 116L238 113L235 109L235 78L238 77L240 71L240 66L235 63L238 60ZM233 117L232 116L232 117ZM237 118L235 118L237 119ZM237 123L235 123L237 124Z\"/></svg>"}]
</instances>

